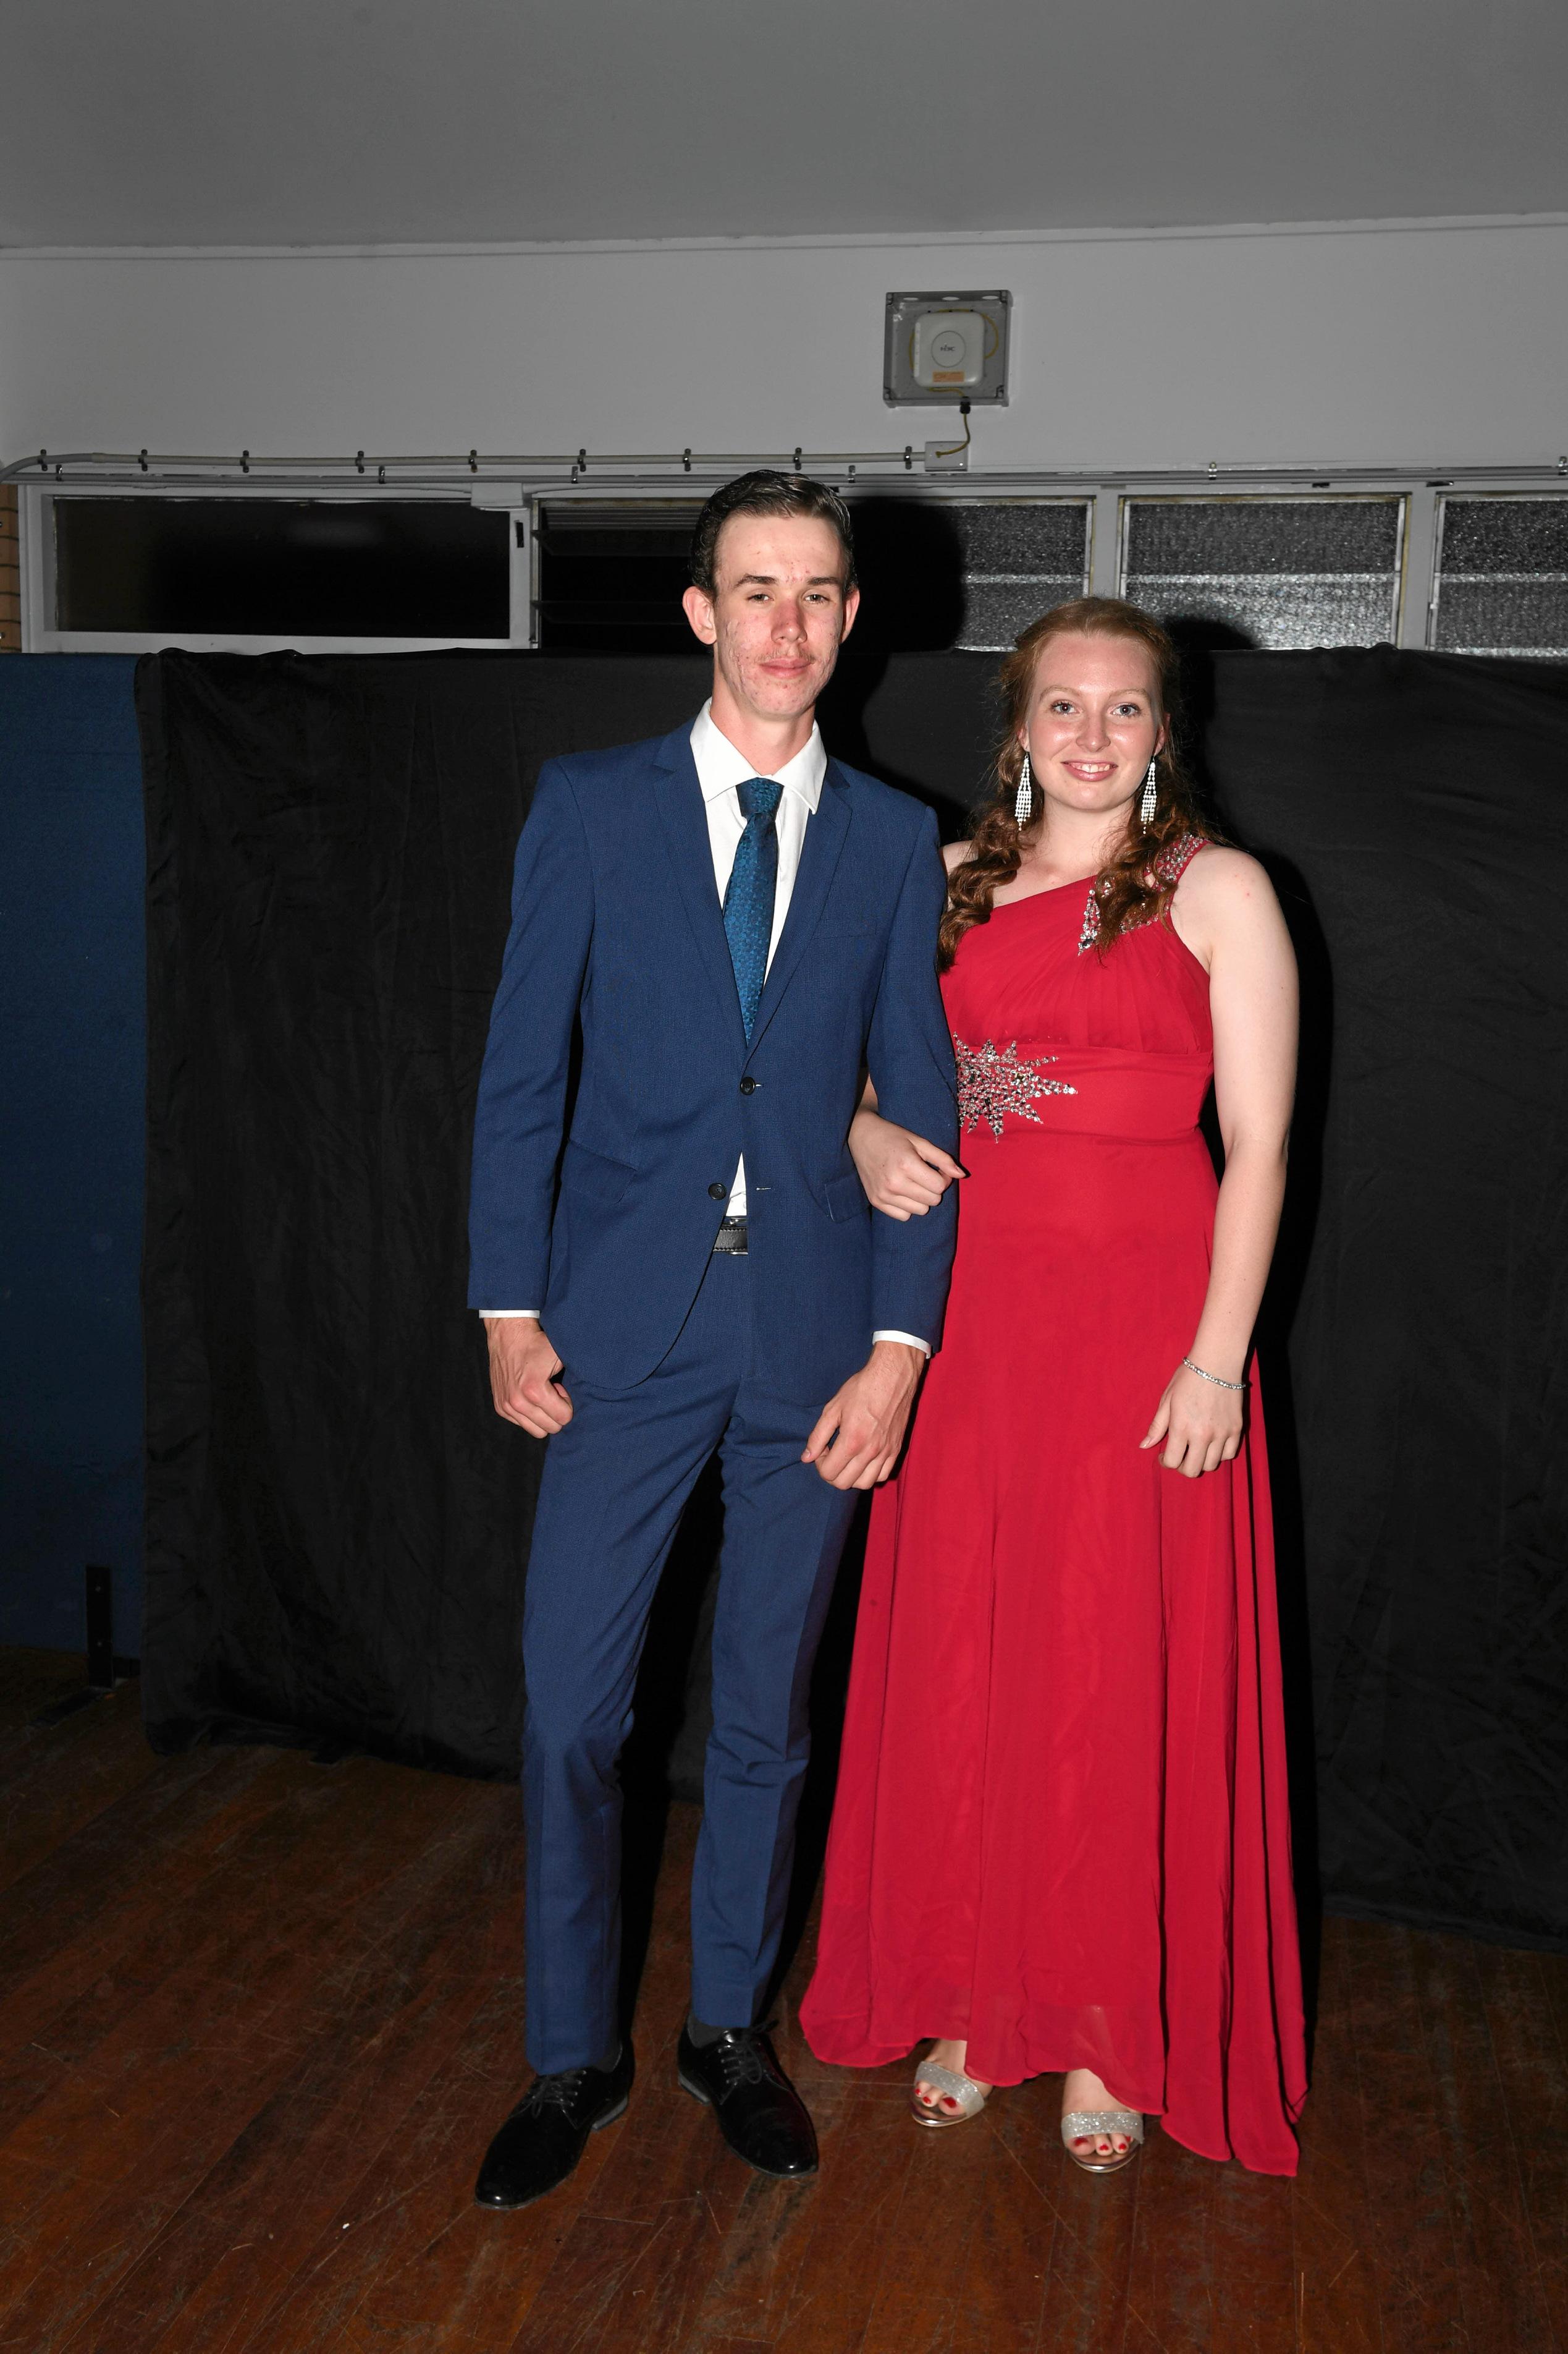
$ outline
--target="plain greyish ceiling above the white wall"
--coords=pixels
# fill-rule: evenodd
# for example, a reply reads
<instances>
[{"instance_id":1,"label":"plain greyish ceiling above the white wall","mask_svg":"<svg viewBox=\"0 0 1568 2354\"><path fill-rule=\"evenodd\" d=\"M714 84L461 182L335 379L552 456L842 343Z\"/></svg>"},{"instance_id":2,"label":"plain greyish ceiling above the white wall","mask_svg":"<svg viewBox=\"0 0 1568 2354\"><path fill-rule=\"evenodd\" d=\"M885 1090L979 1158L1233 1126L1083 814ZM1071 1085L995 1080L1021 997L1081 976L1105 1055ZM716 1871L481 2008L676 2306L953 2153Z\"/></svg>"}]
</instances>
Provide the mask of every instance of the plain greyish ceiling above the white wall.
<instances>
[{"instance_id":1,"label":"plain greyish ceiling above the white wall","mask_svg":"<svg viewBox=\"0 0 1568 2354\"><path fill-rule=\"evenodd\" d=\"M7 0L0 245L1568 210L1563 0Z\"/></svg>"}]
</instances>

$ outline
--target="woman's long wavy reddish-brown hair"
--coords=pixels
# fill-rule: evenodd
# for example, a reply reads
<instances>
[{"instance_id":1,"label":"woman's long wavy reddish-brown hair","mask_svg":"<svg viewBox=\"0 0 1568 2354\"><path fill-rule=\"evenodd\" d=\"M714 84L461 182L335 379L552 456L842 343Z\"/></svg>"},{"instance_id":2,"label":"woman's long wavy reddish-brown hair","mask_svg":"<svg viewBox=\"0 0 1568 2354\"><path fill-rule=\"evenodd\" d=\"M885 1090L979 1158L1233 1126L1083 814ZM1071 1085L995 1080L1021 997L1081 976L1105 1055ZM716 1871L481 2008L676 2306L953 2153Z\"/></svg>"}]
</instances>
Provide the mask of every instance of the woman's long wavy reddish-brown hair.
<instances>
[{"instance_id":1,"label":"woman's long wavy reddish-brown hair","mask_svg":"<svg viewBox=\"0 0 1568 2354\"><path fill-rule=\"evenodd\" d=\"M1095 897L1099 899L1099 937L1095 939L1095 949L1099 956L1135 925L1168 916L1175 883L1161 869L1168 864L1165 852L1175 850L1182 836L1201 833L1205 840L1220 838L1215 826L1205 824L1198 814L1198 793L1182 758L1182 673L1170 636L1154 614L1147 614L1140 605L1128 605L1118 596L1078 596L1069 605L1052 605L1050 612L1029 624L1001 666L1003 734L991 763L994 786L975 812L970 855L954 869L946 883L946 909L937 935L939 972L946 972L954 963L963 935L977 923L991 920L991 904L998 887L1010 883L1019 869L1024 836L1045 822L1038 789L1038 814L1031 824L1019 831L1012 814L1017 779L1024 765L1019 732L1029 718L1041 654L1052 638L1067 636L1132 638L1142 645L1154 659L1161 716L1165 720L1165 749L1158 756L1154 774L1154 822L1142 826L1135 805L1125 840L1095 878Z\"/></svg>"}]
</instances>

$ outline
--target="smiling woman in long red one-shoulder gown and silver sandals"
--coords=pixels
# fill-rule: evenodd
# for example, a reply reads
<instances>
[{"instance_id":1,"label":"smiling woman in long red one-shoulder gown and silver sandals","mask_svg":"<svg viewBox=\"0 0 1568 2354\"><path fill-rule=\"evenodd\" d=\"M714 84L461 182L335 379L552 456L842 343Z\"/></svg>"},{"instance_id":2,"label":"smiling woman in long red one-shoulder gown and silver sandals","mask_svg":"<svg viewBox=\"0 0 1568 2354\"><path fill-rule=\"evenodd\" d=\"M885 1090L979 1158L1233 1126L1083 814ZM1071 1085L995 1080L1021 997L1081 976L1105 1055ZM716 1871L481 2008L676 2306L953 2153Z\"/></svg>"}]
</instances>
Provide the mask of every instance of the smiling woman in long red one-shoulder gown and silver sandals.
<instances>
[{"instance_id":1,"label":"smiling woman in long red one-shoulder gown and silver sandals","mask_svg":"<svg viewBox=\"0 0 1568 2354\"><path fill-rule=\"evenodd\" d=\"M921 2123L1064 2072L1090 2170L1158 2114L1288 2175L1307 2074L1250 1342L1295 965L1262 869L1198 833L1172 683L1137 607L1036 621L996 796L949 855L954 1288L871 1516L800 2022L852 2067L935 2036ZM852 1149L895 1217L961 1175L873 1109Z\"/></svg>"}]
</instances>

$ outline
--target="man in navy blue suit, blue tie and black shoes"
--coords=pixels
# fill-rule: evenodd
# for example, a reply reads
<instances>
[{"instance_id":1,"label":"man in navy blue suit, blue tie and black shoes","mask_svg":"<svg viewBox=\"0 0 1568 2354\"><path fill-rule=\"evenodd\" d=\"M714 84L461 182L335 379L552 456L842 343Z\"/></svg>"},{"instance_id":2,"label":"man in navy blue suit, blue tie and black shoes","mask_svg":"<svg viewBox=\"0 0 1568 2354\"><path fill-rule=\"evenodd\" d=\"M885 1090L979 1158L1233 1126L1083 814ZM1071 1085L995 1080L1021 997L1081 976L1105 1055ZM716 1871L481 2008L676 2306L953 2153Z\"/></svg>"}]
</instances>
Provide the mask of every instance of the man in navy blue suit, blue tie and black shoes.
<instances>
[{"instance_id":1,"label":"man in navy blue suit, blue tie and black shoes","mask_svg":"<svg viewBox=\"0 0 1568 2354\"><path fill-rule=\"evenodd\" d=\"M817 2142L760 2024L808 1688L855 1492L937 1346L954 1191L873 1215L866 1071L951 1149L928 810L822 746L855 621L850 518L800 476L716 492L685 612L695 725L551 760L518 843L473 1132L471 1306L497 1412L549 1438L523 1620L527 2057L485 2206L553 2189L626 2107L617 1758L676 1521L713 1452L725 1535L678 2081L770 2175ZM572 1080L572 1045L582 1064Z\"/></svg>"}]
</instances>

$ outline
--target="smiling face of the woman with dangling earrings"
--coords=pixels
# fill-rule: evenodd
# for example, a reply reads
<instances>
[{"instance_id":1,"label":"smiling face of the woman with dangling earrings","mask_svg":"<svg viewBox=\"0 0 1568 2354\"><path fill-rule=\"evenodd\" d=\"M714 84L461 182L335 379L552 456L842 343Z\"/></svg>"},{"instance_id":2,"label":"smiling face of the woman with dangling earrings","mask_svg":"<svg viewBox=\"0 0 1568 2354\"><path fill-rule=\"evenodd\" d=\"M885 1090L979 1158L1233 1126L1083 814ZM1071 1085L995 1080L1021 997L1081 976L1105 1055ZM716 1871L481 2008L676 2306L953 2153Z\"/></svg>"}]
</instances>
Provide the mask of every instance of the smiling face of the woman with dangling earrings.
<instances>
[{"instance_id":1,"label":"smiling face of the woman with dangling earrings","mask_svg":"<svg viewBox=\"0 0 1568 2354\"><path fill-rule=\"evenodd\" d=\"M1165 744L1154 657L1137 638L1048 638L1019 732L1048 803L1111 817Z\"/></svg>"}]
</instances>

